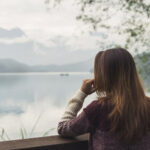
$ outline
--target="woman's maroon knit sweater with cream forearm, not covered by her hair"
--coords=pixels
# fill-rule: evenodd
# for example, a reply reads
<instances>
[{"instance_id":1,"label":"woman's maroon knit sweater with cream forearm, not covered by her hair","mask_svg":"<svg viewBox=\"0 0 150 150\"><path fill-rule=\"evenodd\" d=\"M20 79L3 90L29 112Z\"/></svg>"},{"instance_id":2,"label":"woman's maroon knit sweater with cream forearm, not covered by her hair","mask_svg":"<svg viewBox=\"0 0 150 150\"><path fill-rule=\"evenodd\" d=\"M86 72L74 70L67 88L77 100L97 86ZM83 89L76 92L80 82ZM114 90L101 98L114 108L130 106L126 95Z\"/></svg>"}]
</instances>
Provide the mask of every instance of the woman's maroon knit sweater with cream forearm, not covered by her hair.
<instances>
[{"instance_id":1,"label":"woman's maroon knit sweater with cream forearm, not covered by her hair","mask_svg":"<svg viewBox=\"0 0 150 150\"><path fill-rule=\"evenodd\" d=\"M77 115L83 106L87 95L78 90L69 100L62 115L57 131L63 137L75 137L90 133L88 150L150 150L150 135L143 137L138 144L124 145L115 135L110 133L110 122L107 120L111 108L101 106L98 100L93 100Z\"/></svg>"}]
</instances>

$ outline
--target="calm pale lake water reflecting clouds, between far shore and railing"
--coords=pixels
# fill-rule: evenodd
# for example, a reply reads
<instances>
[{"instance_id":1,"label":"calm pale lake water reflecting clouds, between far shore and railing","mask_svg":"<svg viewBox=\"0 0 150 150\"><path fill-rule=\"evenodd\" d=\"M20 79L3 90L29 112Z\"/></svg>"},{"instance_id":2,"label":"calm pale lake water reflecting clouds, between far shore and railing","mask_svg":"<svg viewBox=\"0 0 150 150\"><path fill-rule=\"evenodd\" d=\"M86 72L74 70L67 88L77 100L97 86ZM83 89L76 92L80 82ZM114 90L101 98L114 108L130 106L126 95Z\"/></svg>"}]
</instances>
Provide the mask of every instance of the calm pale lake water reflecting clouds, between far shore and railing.
<instances>
[{"instance_id":1,"label":"calm pale lake water reflecting clouds, between far shore and railing","mask_svg":"<svg viewBox=\"0 0 150 150\"><path fill-rule=\"evenodd\" d=\"M57 135L67 102L82 80L92 77L91 73L0 74L1 140ZM82 109L95 98L96 94L88 96Z\"/></svg>"}]
</instances>

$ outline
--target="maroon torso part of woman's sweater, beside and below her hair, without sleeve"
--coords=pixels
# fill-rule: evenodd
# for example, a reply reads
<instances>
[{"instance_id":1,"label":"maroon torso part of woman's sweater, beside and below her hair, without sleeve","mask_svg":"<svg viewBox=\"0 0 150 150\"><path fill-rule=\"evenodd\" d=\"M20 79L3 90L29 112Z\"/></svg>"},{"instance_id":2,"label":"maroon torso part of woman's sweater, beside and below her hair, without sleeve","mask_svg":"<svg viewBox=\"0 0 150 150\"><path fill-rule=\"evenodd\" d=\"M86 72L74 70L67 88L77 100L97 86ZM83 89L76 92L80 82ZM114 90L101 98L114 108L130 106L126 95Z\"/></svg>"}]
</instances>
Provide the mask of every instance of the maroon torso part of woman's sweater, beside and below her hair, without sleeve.
<instances>
[{"instance_id":1,"label":"maroon torso part of woman's sweater, beside and below her hair, without sleeve","mask_svg":"<svg viewBox=\"0 0 150 150\"><path fill-rule=\"evenodd\" d=\"M108 105L109 104L106 103L101 106L98 100L94 100L83 109L92 126L89 147L91 147L92 150L149 150L150 134L143 136L136 144L127 145L119 141L115 134L110 133L108 114L112 111L112 108Z\"/></svg>"}]
</instances>

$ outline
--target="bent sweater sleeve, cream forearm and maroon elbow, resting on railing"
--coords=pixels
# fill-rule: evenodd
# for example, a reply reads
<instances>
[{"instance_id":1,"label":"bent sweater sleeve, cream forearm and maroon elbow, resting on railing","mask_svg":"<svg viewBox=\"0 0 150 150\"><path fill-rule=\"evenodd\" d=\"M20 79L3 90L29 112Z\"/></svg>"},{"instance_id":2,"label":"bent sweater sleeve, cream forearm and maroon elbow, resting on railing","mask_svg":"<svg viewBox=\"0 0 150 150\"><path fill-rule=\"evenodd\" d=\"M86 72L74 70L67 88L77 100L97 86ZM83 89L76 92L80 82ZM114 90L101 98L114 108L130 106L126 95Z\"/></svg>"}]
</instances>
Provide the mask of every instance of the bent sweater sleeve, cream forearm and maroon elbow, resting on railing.
<instances>
[{"instance_id":1,"label":"bent sweater sleeve, cream forearm and maroon elbow, resting on railing","mask_svg":"<svg viewBox=\"0 0 150 150\"><path fill-rule=\"evenodd\" d=\"M84 92L78 90L70 99L65 112L58 123L58 134L64 137L74 137L90 131L90 123L86 113L82 111L77 116L86 97L87 95Z\"/></svg>"}]
</instances>

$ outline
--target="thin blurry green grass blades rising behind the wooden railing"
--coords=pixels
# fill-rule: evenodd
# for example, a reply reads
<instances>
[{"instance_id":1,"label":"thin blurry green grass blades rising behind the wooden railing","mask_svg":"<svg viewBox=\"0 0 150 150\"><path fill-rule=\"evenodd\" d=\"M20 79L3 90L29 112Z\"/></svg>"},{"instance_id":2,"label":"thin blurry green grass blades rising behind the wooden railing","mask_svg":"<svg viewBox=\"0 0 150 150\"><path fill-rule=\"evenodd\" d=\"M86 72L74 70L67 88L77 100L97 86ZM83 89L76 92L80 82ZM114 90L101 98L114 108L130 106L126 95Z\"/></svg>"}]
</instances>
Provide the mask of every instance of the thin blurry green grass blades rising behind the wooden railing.
<instances>
[{"instance_id":1,"label":"thin blurry green grass blades rising behind the wooden railing","mask_svg":"<svg viewBox=\"0 0 150 150\"><path fill-rule=\"evenodd\" d=\"M36 126L39 123L40 118L41 118L41 114L36 119L35 123L33 124L33 127L31 128L31 132L29 132L29 134L24 127L20 128L20 131L19 131L20 137L21 137L20 139L23 140L26 138L31 138L33 136L33 133L35 132ZM0 128L0 129L1 129L0 140L1 141L11 140L11 138L8 136L5 129L4 128ZM51 128L51 129L45 131L41 136L44 137L44 136L50 135L50 132L53 131L54 129L56 129L56 128Z\"/></svg>"}]
</instances>

